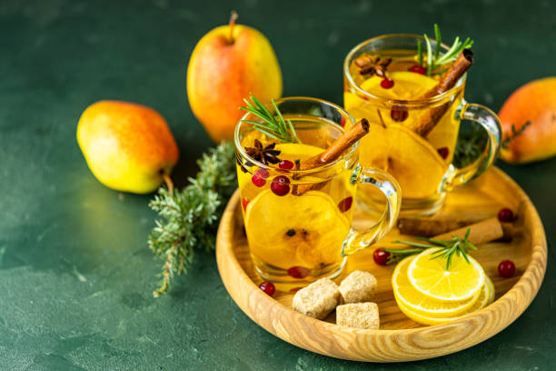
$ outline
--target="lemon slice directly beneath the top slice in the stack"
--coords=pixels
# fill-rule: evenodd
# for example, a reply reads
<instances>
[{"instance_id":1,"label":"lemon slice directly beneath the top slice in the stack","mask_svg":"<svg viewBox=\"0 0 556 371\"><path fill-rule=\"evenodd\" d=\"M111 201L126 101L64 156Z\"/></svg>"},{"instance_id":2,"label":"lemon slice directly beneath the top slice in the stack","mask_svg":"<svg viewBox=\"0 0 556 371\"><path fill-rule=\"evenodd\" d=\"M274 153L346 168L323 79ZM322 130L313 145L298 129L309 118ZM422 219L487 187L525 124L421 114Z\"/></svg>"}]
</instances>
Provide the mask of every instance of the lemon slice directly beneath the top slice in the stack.
<instances>
[{"instance_id":1,"label":"lemon slice directly beneath the top slice in the stack","mask_svg":"<svg viewBox=\"0 0 556 371\"><path fill-rule=\"evenodd\" d=\"M414 259L415 256L403 259L398 263L392 274L392 288L398 304L401 304L412 312L433 318L458 316L475 304L481 291L467 300L456 302L435 300L416 290L407 276L407 268Z\"/></svg>"}]
</instances>

